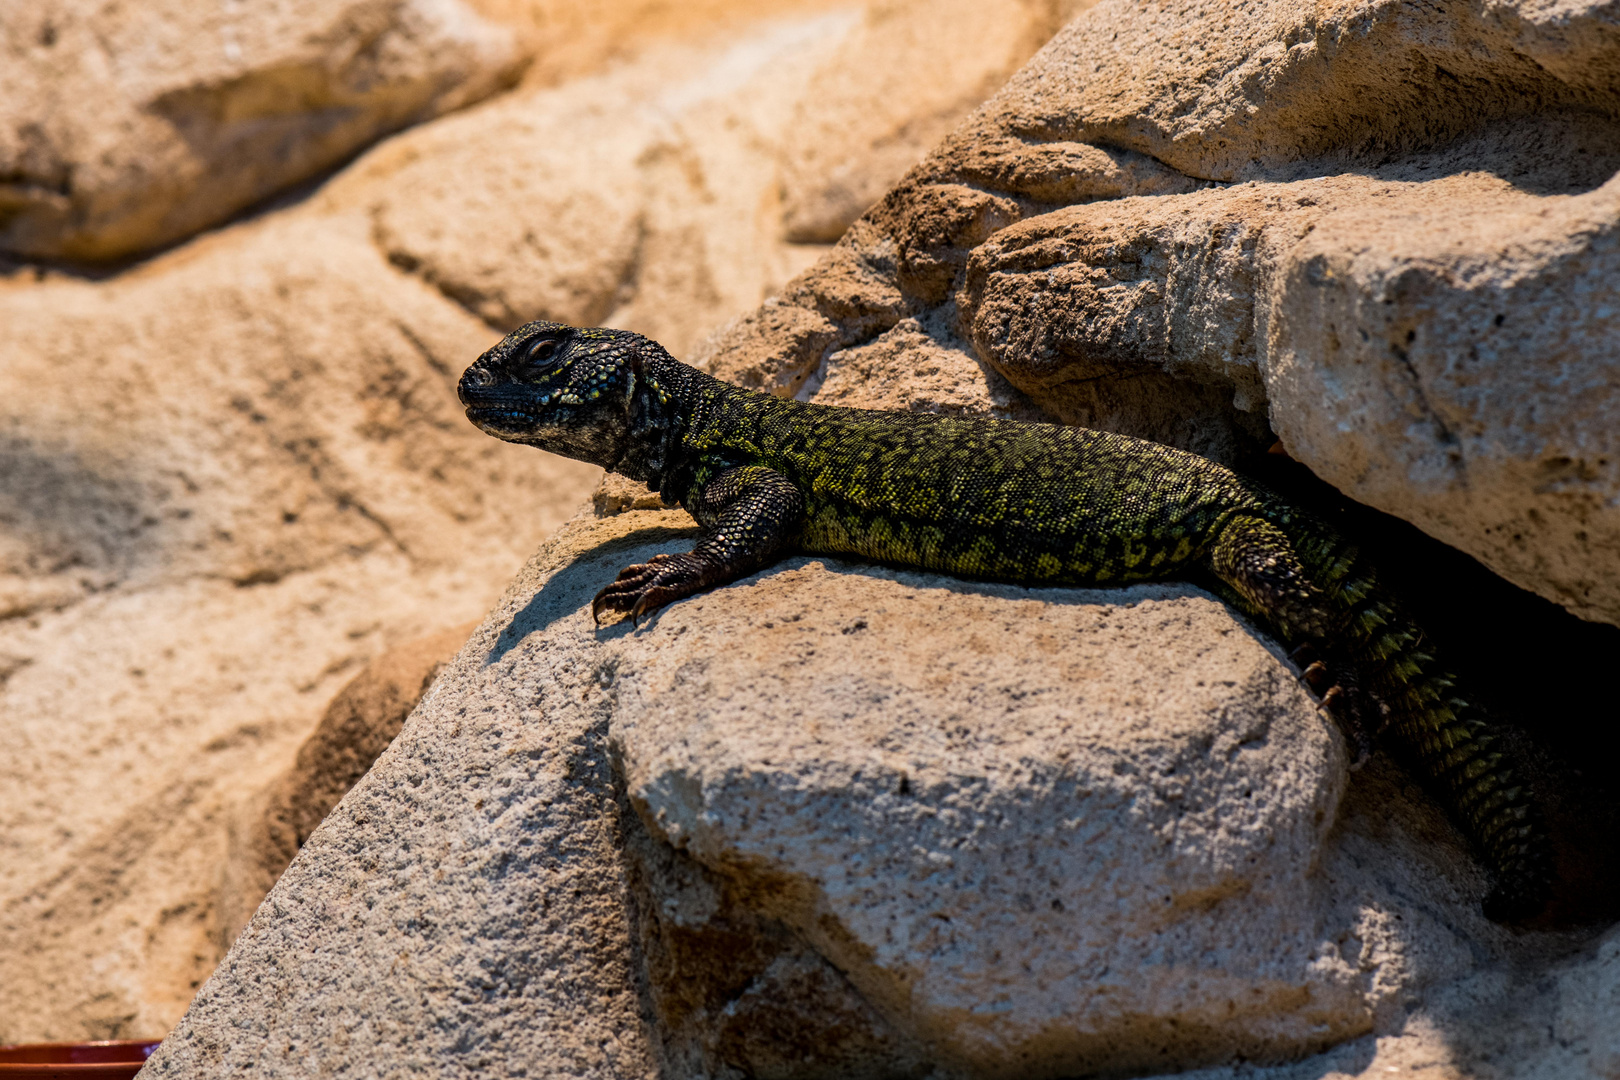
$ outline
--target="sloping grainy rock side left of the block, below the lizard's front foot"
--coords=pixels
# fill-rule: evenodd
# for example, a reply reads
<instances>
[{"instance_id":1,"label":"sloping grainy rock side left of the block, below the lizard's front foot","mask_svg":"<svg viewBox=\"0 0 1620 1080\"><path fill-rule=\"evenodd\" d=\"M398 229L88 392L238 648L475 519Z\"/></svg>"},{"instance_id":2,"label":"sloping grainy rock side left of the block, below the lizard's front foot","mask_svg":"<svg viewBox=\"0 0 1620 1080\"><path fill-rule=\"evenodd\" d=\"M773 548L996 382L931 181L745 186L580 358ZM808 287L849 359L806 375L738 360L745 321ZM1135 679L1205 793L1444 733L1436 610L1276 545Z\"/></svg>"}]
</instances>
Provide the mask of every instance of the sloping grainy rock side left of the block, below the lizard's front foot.
<instances>
[{"instance_id":1,"label":"sloping grainy rock side left of the block, below the lizard's front foot","mask_svg":"<svg viewBox=\"0 0 1620 1080\"><path fill-rule=\"evenodd\" d=\"M549 546L536 575L575 551ZM387 1061L441 1075L653 1075L619 800L586 693L598 675L580 651L591 641L577 610L588 580L573 576L565 609L559 589L533 612L541 622L573 615L554 662L514 678L518 657L489 662L507 604L522 609L533 594L525 575L504 617L475 633L303 845L193 1018L147 1062L149 1077L306 1061L368 1070ZM353 933L366 925L384 929ZM284 975L259 968L266 960ZM293 980L275 1009L262 1007L267 986L253 986L261 976ZM225 1036L211 1022L225 1015L248 1027Z\"/></svg>"}]
</instances>

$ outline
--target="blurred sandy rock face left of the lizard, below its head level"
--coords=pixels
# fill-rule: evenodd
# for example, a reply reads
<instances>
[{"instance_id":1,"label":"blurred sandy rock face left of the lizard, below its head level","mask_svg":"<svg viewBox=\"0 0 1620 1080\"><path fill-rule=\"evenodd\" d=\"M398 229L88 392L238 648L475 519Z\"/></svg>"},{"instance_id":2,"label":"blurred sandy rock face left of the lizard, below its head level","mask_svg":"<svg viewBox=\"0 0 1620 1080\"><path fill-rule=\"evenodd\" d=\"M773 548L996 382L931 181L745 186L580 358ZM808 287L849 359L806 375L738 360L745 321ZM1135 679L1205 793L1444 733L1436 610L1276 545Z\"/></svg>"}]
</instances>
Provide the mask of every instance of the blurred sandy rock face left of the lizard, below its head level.
<instances>
[{"instance_id":1,"label":"blurred sandy rock face left of the lizard, below its head level","mask_svg":"<svg viewBox=\"0 0 1620 1080\"><path fill-rule=\"evenodd\" d=\"M496 335L363 217L18 282L0 322L0 1040L160 1035L228 944L232 806L598 471L465 423Z\"/></svg>"}]
</instances>

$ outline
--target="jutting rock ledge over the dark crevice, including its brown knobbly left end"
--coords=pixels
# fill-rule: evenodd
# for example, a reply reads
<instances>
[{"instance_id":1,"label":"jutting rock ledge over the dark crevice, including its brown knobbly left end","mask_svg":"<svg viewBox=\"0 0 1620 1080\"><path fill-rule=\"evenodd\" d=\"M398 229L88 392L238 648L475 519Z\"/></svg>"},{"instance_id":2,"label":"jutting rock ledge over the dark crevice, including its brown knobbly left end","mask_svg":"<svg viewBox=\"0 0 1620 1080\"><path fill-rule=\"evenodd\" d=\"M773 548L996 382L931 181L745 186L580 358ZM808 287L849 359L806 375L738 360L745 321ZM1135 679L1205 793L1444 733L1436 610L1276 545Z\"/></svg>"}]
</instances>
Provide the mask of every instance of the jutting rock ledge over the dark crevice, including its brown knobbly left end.
<instances>
[{"instance_id":1,"label":"jutting rock ledge over the dark crevice, including its brown knobbly left end","mask_svg":"<svg viewBox=\"0 0 1620 1080\"><path fill-rule=\"evenodd\" d=\"M974 251L962 322L1064 418L1126 372L1200 387L1162 395L1204 400L1183 426L1268 402L1345 494L1614 622L1617 209L1586 189L1617 168L1620 126L1537 120L1361 175L1055 210ZM1176 415L1129 426L1231 455Z\"/></svg>"}]
</instances>

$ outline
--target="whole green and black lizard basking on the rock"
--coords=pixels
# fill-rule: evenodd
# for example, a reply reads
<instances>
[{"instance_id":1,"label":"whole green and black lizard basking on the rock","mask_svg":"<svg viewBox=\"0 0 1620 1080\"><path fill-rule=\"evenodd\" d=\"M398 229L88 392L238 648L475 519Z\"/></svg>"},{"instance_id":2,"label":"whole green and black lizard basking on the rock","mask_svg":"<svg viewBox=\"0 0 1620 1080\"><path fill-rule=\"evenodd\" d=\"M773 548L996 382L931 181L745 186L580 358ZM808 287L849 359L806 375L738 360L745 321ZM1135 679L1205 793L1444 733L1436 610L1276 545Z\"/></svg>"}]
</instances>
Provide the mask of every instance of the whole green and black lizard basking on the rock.
<instances>
[{"instance_id":1,"label":"whole green and black lizard basking on the rock","mask_svg":"<svg viewBox=\"0 0 1620 1080\"><path fill-rule=\"evenodd\" d=\"M1547 900L1528 789L1422 630L1354 544L1221 465L1084 427L791 402L638 334L557 322L515 330L458 393L488 434L645 481L697 518L690 552L625 568L596 617L637 619L794 551L1021 585L1212 585L1324 657L1361 756L1380 730L1429 780L1495 874L1489 916Z\"/></svg>"}]
</instances>

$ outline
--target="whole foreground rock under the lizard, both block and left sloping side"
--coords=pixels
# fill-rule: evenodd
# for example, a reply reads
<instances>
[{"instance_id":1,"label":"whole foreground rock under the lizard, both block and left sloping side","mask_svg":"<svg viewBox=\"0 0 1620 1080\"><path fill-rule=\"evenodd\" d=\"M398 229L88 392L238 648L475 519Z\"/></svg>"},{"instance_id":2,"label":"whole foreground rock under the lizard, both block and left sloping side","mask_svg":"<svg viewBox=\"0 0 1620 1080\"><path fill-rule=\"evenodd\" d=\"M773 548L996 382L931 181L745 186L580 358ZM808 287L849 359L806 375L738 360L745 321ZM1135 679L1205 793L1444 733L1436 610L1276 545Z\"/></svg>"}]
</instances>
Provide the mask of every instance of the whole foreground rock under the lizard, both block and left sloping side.
<instances>
[{"instance_id":1,"label":"whole foreground rock under the lizard, both block and left sloping side","mask_svg":"<svg viewBox=\"0 0 1620 1080\"><path fill-rule=\"evenodd\" d=\"M1545 955L1387 766L1345 795L1340 737L1207 594L791 559L593 630L685 521L580 518L531 560L146 1075L1366 1056Z\"/></svg>"}]
</instances>

